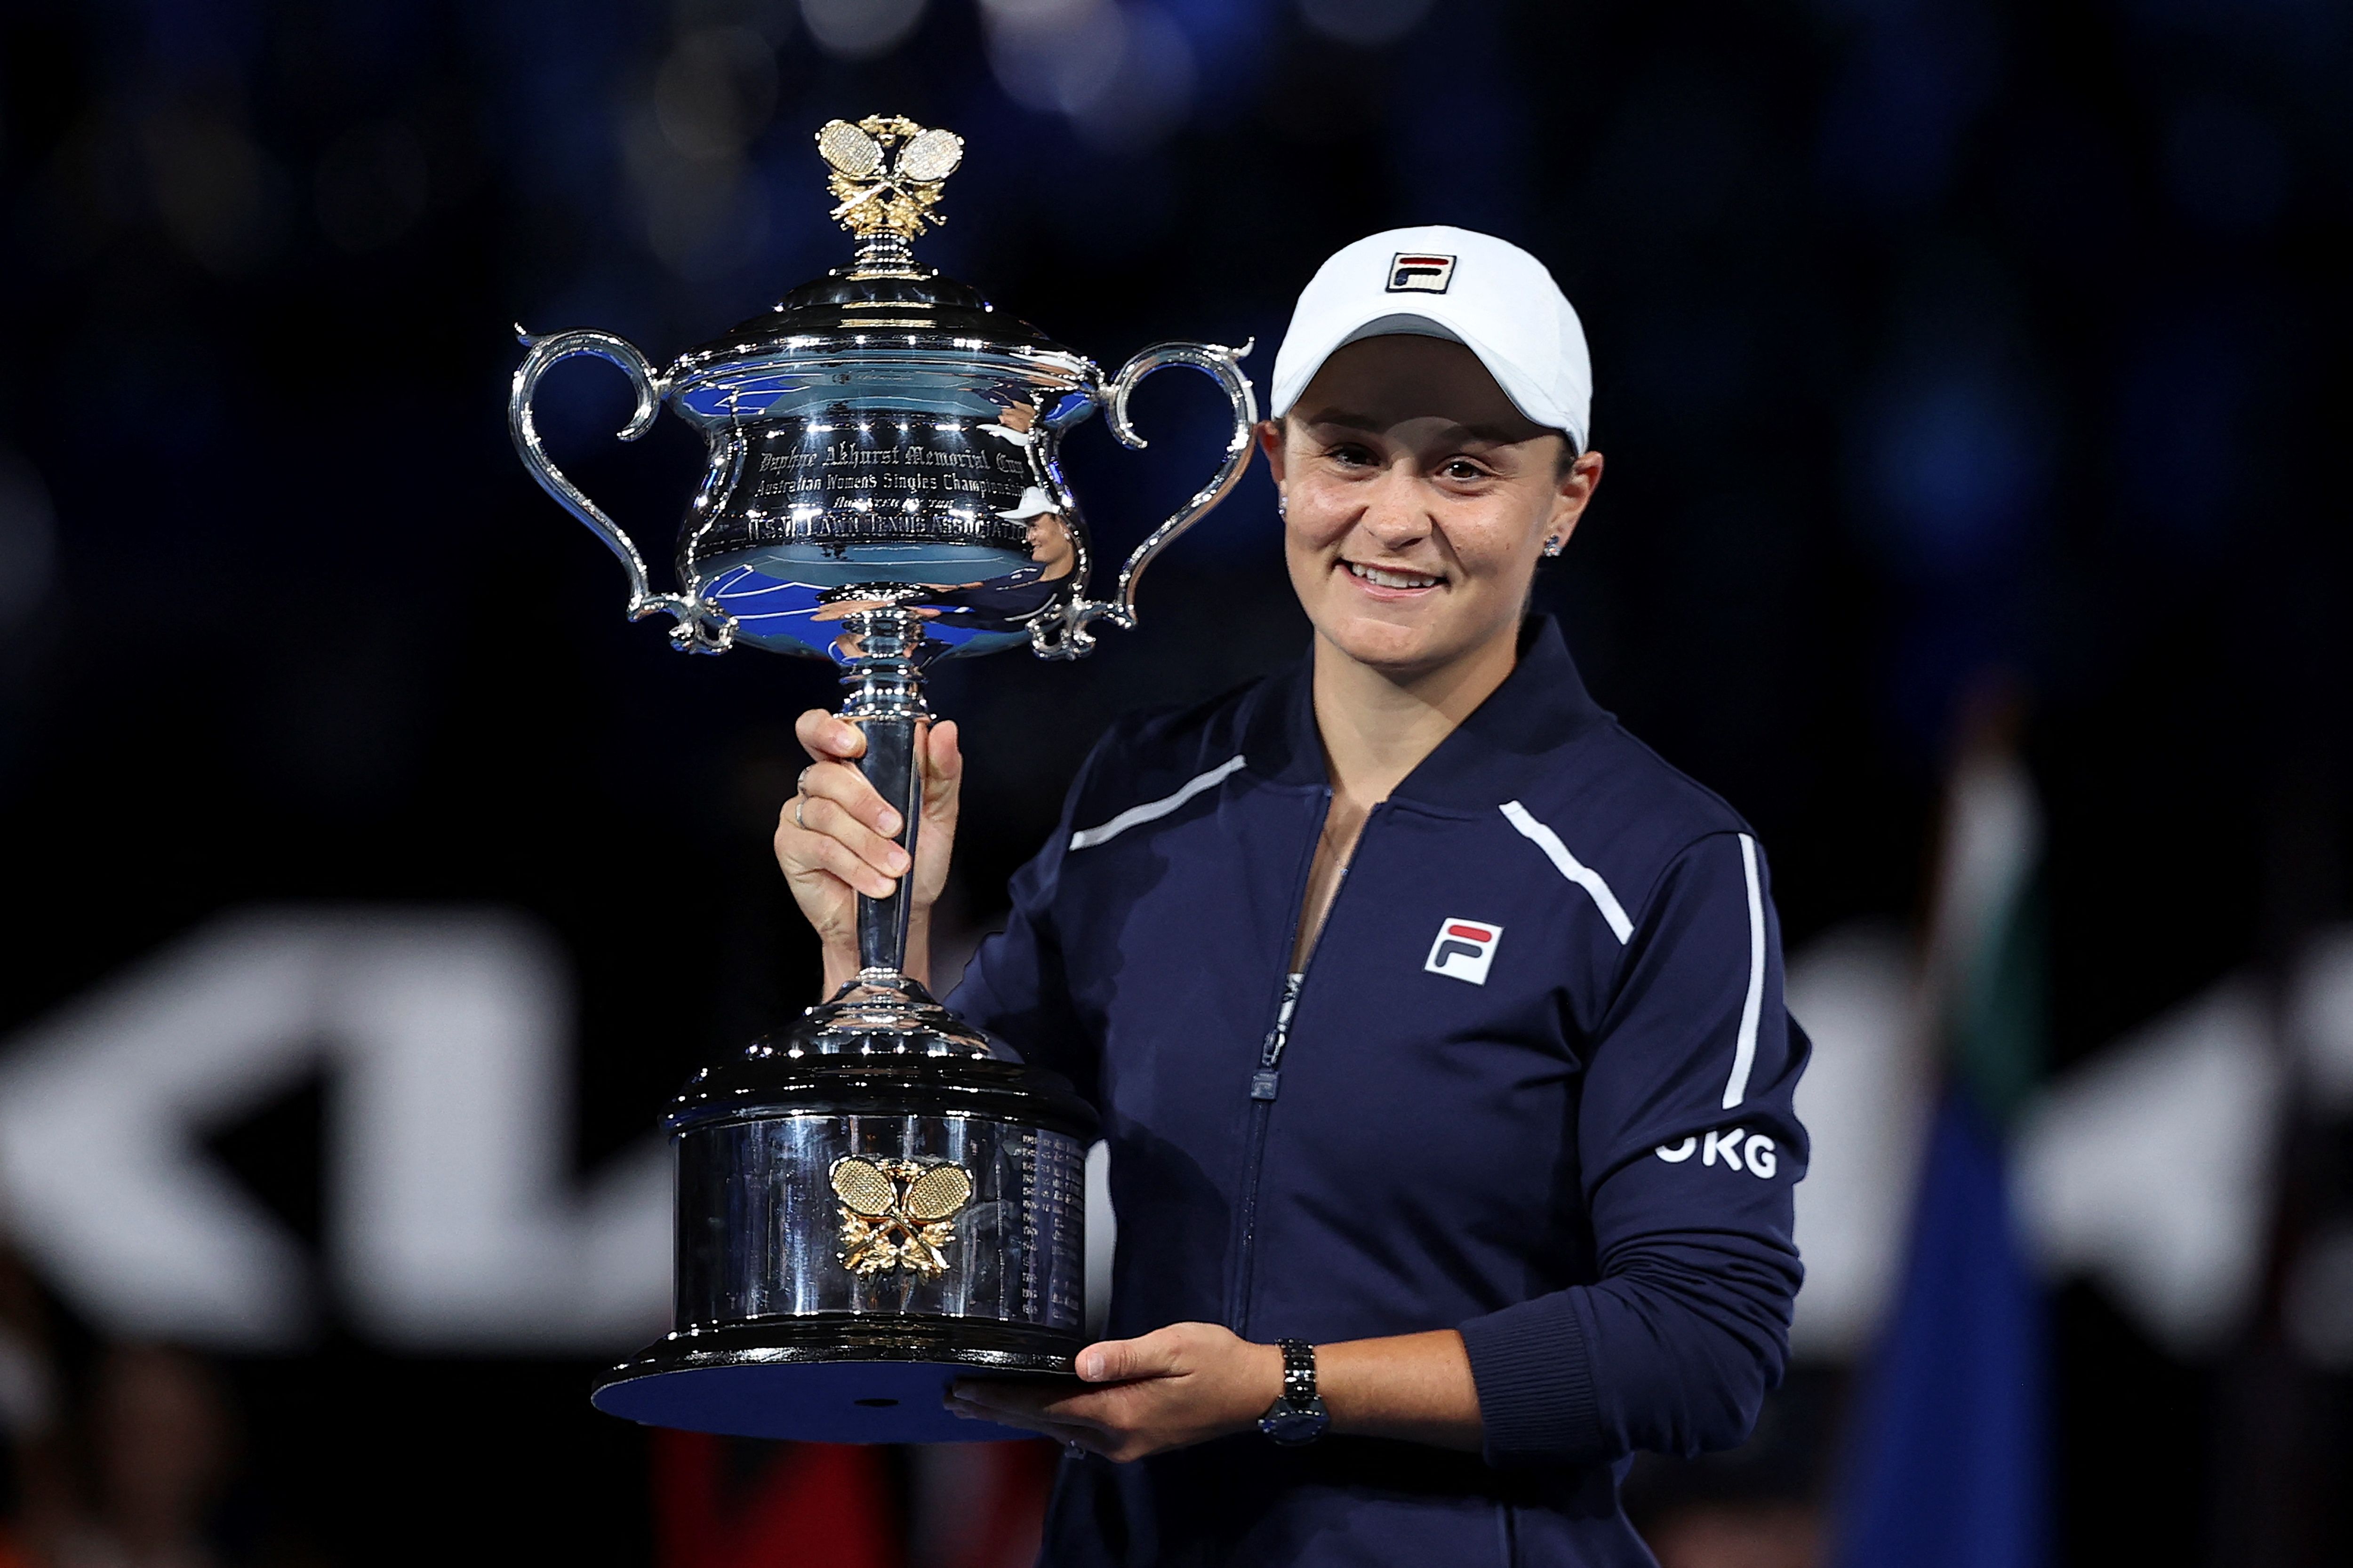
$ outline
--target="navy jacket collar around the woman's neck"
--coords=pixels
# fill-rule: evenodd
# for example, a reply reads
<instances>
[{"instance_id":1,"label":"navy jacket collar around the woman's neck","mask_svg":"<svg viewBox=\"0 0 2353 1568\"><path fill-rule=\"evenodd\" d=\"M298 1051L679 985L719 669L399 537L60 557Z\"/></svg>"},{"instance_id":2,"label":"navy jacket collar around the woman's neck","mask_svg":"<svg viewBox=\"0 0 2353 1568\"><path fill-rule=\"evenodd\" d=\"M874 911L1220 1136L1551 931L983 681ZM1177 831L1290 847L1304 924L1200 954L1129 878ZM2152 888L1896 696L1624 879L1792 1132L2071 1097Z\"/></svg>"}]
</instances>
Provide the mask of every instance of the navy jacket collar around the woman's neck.
<instances>
[{"instance_id":1,"label":"navy jacket collar around the woman's neck","mask_svg":"<svg viewBox=\"0 0 2353 1568\"><path fill-rule=\"evenodd\" d=\"M1322 736L1315 731L1313 661L1308 649L1299 663L1275 675L1257 691L1257 703L1242 724L1242 755L1249 771L1278 785L1325 788ZM1522 780L1555 771L1548 755L1591 729L1609 724L1584 679L1560 623L1529 616L1520 623L1520 661L1471 717L1454 726L1421 759L1391 799L1438 806L1442 811L1492 811L1513 799Z\"/></svg>"}]
</instances>

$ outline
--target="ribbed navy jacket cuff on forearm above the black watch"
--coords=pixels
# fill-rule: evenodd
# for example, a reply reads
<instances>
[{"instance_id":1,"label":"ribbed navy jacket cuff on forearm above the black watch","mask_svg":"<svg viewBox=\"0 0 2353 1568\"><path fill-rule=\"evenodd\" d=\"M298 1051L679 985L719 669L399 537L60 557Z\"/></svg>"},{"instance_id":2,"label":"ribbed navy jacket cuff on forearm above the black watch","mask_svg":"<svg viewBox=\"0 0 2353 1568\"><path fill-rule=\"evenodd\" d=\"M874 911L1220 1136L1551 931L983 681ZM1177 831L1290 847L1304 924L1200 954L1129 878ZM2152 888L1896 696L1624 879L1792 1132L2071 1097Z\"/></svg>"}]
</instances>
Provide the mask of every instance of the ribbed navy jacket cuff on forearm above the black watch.
<instances>
[{"instance_id":1,"label":"ribbed navy jacket cuff on forearm above the black watch","mask_svg":"<svg viewBox=\"0 0 2353 1568\"><path fill-rule=\"evenodd\" d=\"M1567 1293L1475 1316L1459 1333L1471 1352L1489 1465L1588 1465L1605 1458L1593 1356Z\"/></svg>"}]
</instances>

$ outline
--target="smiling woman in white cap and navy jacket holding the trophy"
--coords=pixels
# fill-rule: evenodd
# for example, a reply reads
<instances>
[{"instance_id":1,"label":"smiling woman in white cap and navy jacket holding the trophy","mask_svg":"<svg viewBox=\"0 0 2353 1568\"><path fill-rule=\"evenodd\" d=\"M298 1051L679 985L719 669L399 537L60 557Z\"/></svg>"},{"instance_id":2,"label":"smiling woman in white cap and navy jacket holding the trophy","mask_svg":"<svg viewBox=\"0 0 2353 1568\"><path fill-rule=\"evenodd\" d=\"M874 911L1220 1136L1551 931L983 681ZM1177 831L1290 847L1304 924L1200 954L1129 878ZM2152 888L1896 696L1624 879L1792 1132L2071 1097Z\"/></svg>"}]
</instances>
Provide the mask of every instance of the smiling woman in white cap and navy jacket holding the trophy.
<instances>
[{"instance_id":1,"label":"smiling woman in white cap and navy jacket holding the trophy","mask_svg":"<svg viewBox=\"0 0 2353 1568\"><path fill-rule=\"evenodd\" d=\"M1762 856L1525 614L1588 386L1525 252L1332 256L1261 428L1306 663L1115 724L953 999L1111 1140L1113 1338L1075 1392L953 1396L1082 1450L1047 1561L1647 1563L1626 1455L1739 1443L1781 1373L1807 1046ZM838 985L911 867L859 733L800 738L776 856ZM927 769L918 910L953 724Z\"/></svg>"}]
</instances>

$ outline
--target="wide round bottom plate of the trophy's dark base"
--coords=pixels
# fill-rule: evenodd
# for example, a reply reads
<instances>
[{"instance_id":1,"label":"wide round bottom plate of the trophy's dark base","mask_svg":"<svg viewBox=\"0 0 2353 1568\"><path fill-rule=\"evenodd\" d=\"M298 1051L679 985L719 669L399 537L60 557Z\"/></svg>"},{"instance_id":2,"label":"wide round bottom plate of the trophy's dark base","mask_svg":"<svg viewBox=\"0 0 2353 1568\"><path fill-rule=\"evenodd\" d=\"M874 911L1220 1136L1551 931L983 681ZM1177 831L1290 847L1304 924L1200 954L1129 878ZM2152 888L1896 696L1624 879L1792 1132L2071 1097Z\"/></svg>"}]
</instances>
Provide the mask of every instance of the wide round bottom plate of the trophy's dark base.
<instances>
[{"instance_id":1,"label":"wide round bottom plate of the trophy's dark base","mask_svg":"<svg viewBox=\"0 0 2353 1568\"><path fill-rule=\"evenodd\" d=\"M591 1403L645 1427L802 1443L1035 1436L944 1408L958 1378L1071 1378L1082 1340L1019 1324L821 1314L673 1333L598 1380Z\"/></svg>"}]
</instances>

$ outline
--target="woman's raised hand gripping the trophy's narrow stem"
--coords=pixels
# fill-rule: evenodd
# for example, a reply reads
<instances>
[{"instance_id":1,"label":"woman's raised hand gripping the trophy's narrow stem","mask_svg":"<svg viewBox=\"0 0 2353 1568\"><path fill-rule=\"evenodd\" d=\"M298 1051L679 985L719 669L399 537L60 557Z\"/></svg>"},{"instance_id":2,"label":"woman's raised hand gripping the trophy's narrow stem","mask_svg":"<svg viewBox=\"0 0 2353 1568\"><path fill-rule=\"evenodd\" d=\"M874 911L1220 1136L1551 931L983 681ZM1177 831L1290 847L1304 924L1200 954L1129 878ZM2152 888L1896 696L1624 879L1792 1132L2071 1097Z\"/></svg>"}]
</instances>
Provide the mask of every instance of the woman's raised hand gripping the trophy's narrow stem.
<instances>
[{"instance_id":1,"label":"woman's raised hand gripping the trophy's narrow stem","mask_svg":"<svg viewBox=\"0 0 2353 1568\"><path fill-rule=\"evenodd\" d=\"M793 903L816 929L826 952L826 994L859 973L859 893L889 898L906 875L906 851L892 837L899 813L882 799L856 759L866 755L866 731L824 708L793 724L809 766L800 790L776 818L776 865L793 889ZM955 797L965 757L955 748L955 722L918 729L915 759L922 766L922 825L915 832L913 905L906 922L906 973L929 980L932 905L948 882L955 849Z\"/></svg>"}]
</instances>

